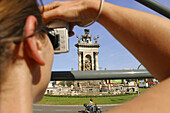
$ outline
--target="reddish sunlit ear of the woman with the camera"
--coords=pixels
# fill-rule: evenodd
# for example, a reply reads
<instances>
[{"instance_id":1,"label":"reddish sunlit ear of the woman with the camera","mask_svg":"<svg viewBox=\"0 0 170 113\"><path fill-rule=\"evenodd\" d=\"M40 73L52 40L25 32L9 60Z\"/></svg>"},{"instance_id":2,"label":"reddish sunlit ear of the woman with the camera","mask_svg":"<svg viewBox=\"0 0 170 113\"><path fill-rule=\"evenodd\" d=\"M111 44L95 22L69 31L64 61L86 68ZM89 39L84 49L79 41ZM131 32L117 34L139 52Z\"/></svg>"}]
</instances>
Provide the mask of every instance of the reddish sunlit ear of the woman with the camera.
<instances>
[{"instance_id":1,"label":"reddish sunlit ear of the woman with the camera","mask_svg":"<svg viewBox=\"0 0 170 113\"><path fill-rule=\"evenodd\" d=\"M25 36L31 36L35 32L35 28L37 26L37 19L35 16L30 15L27 17L25 22ZM44 65L45 61L42 57L42 45L40 40L36 39L36 36L33 35L30 38L26 39L27 43L27 52L29 57L34 59L38 64Z\"/></svg>"}]
</instances>

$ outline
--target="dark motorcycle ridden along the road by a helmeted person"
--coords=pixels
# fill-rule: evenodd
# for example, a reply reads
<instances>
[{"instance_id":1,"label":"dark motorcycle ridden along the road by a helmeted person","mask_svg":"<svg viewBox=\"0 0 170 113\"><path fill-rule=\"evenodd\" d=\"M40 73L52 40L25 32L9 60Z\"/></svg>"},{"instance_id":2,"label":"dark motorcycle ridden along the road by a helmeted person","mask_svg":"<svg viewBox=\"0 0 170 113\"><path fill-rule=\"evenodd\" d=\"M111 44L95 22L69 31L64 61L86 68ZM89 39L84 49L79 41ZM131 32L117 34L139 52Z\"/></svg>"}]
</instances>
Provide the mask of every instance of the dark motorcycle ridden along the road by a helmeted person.
<instances>
[{"instance_id":1,"label":"dark motorcycle ridden along the road by a helmeted person","mask_svg":"<svg viewBox=\"0 0 170 113\"><path fill-rule=\"evenodd\" d=\"M100 107L98 107L96 104L94 107L91 107L87 104L84 104L84 107L85 107L85 113L102 113L102 110ZM94 110L93 110L94 108Z\"/></svg>"}]
</instances>

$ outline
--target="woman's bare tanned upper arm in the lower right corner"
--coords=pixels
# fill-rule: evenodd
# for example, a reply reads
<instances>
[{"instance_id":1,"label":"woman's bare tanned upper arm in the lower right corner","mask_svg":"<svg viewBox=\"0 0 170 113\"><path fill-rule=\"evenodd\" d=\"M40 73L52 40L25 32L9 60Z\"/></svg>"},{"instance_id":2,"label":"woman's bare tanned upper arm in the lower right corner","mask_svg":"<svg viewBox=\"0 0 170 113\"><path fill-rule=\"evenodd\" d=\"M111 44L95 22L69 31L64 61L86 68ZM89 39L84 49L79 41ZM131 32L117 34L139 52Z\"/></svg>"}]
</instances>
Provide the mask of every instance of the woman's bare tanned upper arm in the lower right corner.
<instances>
[{"instance_id":1,"label":"woman's bare tanned upper arm in the lower right corner","mask_svg":"<svg viewBox=\"0 0 170 113\"><path fill-rule=\"evenodd\" d=\"M170 78L106 113L169 113Z\"/></svg>"}]
</instances>

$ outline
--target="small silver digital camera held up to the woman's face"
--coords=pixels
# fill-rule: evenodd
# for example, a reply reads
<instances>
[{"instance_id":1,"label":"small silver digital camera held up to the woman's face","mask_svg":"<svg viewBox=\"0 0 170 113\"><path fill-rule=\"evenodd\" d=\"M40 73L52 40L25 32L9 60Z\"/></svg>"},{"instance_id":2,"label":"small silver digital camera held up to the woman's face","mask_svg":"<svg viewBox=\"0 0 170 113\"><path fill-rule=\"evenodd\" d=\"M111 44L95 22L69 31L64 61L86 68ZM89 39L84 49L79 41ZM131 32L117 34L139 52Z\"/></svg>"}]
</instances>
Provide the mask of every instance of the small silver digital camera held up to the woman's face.
<instances>
[{"instance_id":1,"label":"small silver digital camera held up to the woman's face","mask_svg":"<svg viewBox=\"0 0 170 113\"><path fill-rule=\"evenodd\" d=\"M50 40L54 47L54 54L69 52L69 24L62 20L53 20L47 27L51 29L49 34Z\"/></svg>"}]
</instances>

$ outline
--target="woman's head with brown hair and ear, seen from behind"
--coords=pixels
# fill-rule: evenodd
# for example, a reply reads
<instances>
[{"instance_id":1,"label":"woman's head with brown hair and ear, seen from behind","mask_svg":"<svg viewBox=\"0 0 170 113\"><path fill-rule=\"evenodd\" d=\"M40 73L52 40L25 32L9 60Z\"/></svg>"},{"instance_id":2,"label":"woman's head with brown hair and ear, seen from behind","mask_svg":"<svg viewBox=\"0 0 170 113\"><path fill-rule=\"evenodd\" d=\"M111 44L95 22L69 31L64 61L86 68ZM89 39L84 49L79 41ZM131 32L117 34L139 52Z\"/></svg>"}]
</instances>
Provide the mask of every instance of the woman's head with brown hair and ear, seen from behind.
<instances>
[{"instance_id":1,"label":"woman's head with brown hair and ear, seen from behind","mask_svg":"<svg viewBox=\"0 0 170 113\"><path fill-rule=\"evenodd\" d=\"M44 25L37 1L0 0L0 14L0 85L8 78L3 76L5 70L22 60L32 75L36 100L50 79L53 60L52 46L42 30ZM21 40L18 44L13 43L16 37ZM23 37L29 38L22 40Z\"/></svg>"}]
</instances>

